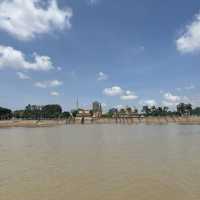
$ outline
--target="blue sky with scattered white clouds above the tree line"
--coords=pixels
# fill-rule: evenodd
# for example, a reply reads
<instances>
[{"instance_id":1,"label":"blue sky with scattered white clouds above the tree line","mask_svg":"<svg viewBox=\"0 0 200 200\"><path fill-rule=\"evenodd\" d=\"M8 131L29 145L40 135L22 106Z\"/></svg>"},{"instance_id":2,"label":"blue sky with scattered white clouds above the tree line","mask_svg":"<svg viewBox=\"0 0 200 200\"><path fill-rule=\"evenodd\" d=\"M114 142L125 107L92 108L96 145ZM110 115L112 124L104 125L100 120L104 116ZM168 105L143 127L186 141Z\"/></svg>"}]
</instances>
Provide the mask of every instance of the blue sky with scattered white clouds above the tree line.
<instances>
[{"instance_id":1,"label":"blue sky with scattered white clouds above the tree line","mask_svg":"<svg viewBox=\"0 0 200 200\"><path fill-rule=\"evenodd\" d=\"M0 1L0 106L200 106L199 74L200 1Z\"/></svg>"}]
</instances>

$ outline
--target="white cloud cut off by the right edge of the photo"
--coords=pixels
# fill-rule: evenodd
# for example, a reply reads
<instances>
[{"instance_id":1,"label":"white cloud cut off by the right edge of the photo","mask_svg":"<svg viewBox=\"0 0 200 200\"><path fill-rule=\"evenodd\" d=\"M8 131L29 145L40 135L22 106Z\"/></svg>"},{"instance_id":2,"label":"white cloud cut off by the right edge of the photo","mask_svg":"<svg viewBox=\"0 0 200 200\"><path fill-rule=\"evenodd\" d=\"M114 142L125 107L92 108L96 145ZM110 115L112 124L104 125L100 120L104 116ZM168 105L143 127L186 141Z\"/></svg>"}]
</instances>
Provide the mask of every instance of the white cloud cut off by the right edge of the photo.
<instances>
[{"instance_id":1,"label":"white cloud cut off by the right edge of the photo","mask_svg":"<svg viewBox=\"0 0 200 200\"><path fill-rule=\"evenodd\" d=\"M176 45L181 53L200 50L200 13L195 16L191 24L186 26L185 32L176 40Z\"/></svg>"}]
</instances>

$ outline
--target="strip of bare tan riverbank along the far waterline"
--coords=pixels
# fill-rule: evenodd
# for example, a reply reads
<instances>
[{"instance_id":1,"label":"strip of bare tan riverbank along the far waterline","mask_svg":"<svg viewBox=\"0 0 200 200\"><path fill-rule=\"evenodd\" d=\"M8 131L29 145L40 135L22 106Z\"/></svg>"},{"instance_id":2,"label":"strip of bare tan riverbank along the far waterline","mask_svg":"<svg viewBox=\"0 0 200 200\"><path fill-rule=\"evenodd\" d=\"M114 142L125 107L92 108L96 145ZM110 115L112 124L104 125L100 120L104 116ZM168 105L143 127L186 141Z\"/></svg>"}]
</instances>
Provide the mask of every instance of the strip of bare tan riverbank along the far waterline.
<instances>
[{"instance_id":1,"label":"strip of bare tan riverbank along the far waterline","mask_svg":"<svg viewBox=\"0 0 200 200\"><path fill-rule=\"evenodd\" d=\"M200 125L200 117L198 116L167 116L167 117L144 117L144 118L99 118L92 120L92 118L85 118L84 124L182 124L182 125ZM68 124L81 124L81 118L76 118L73 121L69 120L5 120L0 121L0 128L12 127L54 127Z\"/></svg>"}]
</instances>

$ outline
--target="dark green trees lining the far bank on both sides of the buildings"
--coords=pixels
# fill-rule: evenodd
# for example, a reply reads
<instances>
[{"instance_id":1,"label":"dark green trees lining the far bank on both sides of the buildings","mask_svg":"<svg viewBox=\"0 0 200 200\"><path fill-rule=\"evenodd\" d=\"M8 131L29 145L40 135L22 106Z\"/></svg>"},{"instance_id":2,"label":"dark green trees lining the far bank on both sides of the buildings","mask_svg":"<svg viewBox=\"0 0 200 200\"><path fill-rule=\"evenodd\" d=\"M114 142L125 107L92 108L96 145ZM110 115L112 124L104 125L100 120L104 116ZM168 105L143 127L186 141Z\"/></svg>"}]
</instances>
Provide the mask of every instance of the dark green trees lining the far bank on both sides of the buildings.
<instances>
[{"instance_id":1,"label":"dark green trees lining the far bank on both sides of the buildings","mask_svg":"<svg viewBox=\"0 0 200 200\"><path fill-rule=\"evenodd\" d=\"M9 120L12 118L28 120L67 119L69 117L76 117L77 113L78 110L72 110L71 112L63 111L62 107L58 104L45 106L29 104L25 109L15 111L0 107L0 120ZM176 110L171 111L168 107L143 106L140 113L138 112L138 109L132 110L130 107L126 109L112 108L103 116L113 117L116 114L124 115L133 113L144 116L200 116L200 107L193 108L191 104L180 103L177 105Z\"/></svg>"}]
</instances>

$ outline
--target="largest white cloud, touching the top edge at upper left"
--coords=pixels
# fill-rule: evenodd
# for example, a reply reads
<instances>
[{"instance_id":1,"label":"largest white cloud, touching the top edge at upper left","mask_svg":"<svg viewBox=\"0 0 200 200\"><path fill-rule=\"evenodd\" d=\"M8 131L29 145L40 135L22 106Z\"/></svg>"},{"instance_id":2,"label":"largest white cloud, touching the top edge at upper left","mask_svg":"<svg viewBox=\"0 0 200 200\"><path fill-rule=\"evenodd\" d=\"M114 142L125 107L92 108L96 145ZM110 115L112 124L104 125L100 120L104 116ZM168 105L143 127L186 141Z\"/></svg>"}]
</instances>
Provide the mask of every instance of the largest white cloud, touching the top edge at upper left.
<instances>
[{"instance_id":1,"label":"largest white cloud, touching the top edge at upper left","mask_svg":"<svg viewBox=\"0 0 200 200\"><path fill-rule=\"evenodd\" d=\"M41 6L41 4L44 4L44 1L0 1L0 29L19 40L26 41L36 35L71 27L72 10L70 8L60 9L57 0L50 0L46 6Z\"/></svg>"}]
</instances>

